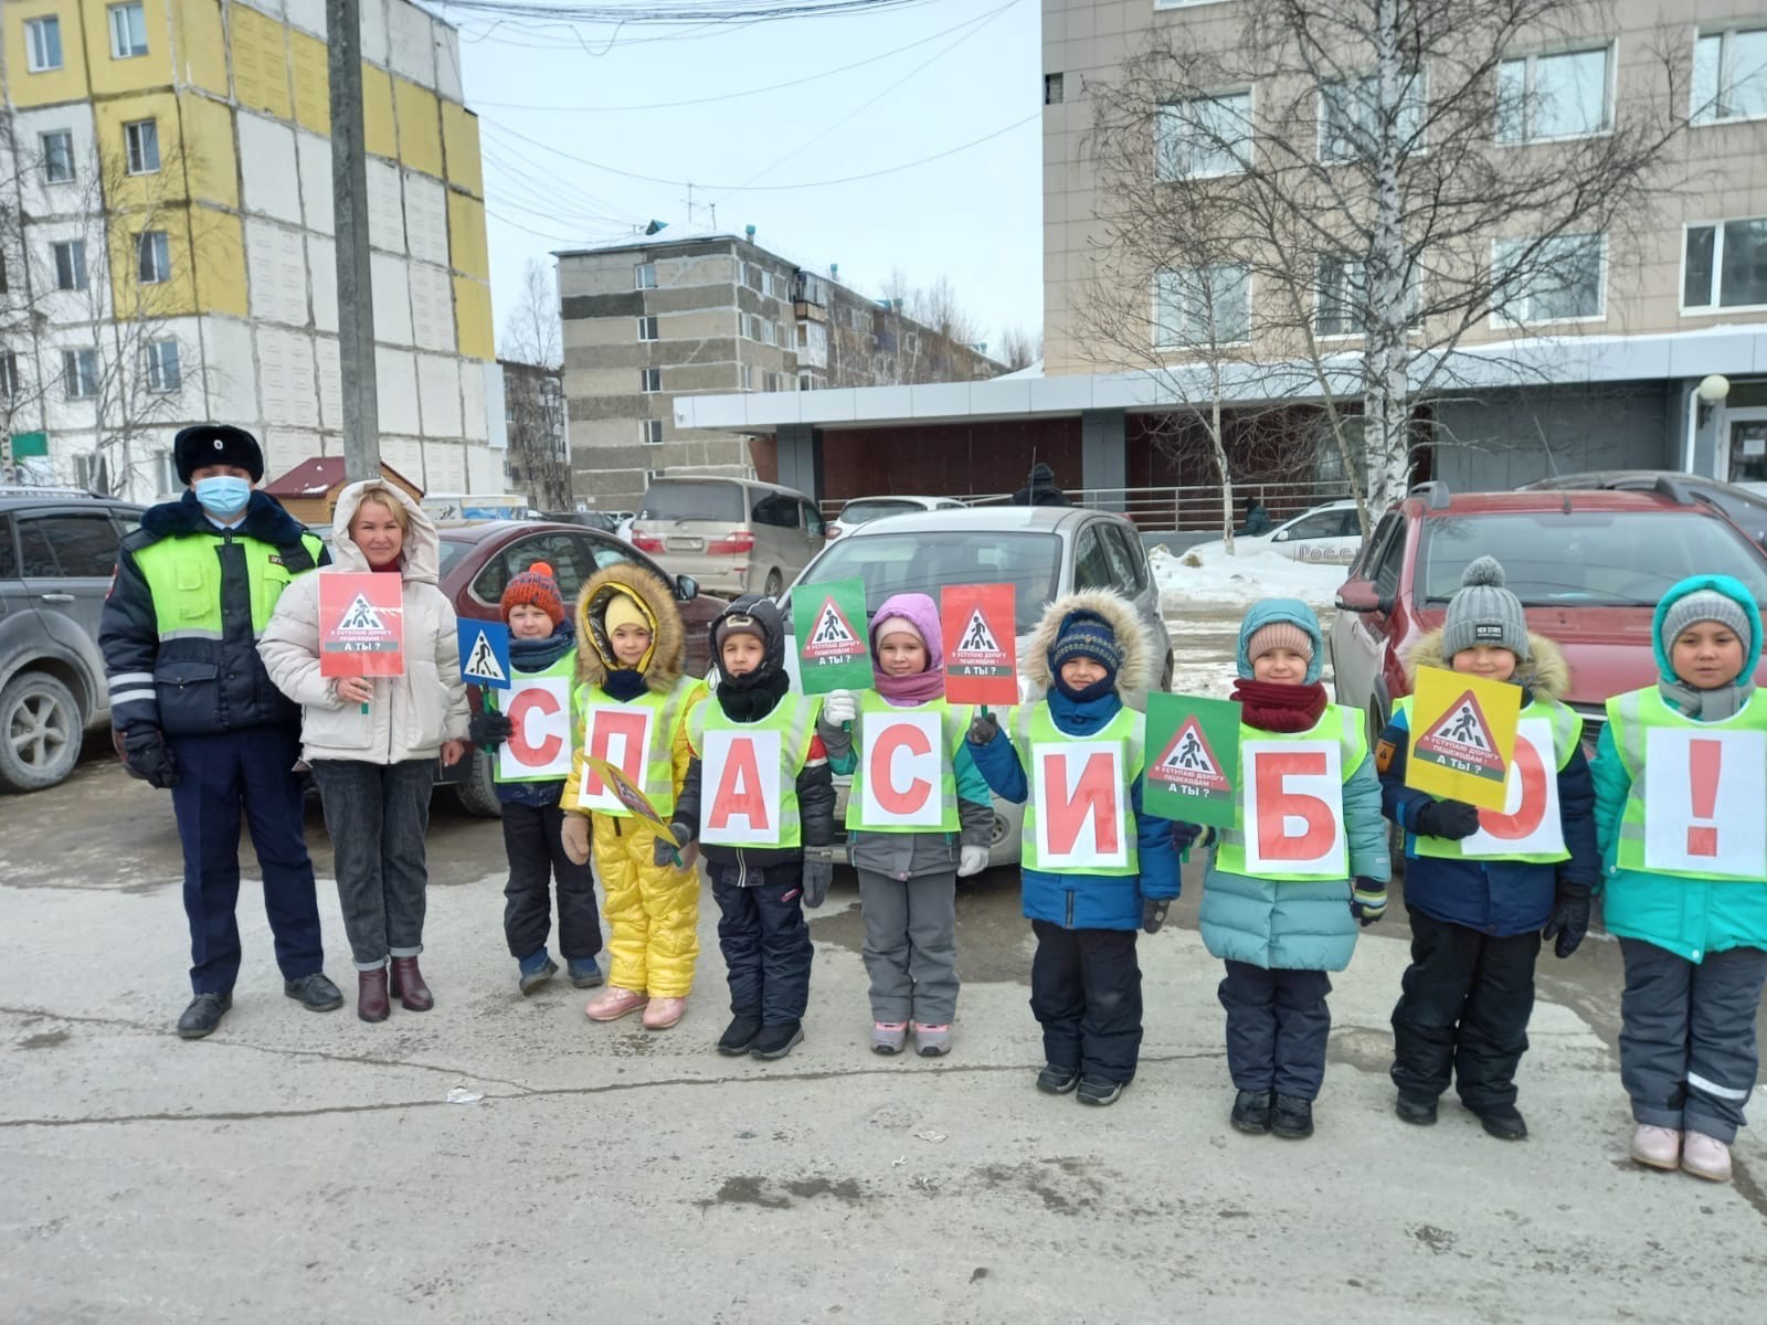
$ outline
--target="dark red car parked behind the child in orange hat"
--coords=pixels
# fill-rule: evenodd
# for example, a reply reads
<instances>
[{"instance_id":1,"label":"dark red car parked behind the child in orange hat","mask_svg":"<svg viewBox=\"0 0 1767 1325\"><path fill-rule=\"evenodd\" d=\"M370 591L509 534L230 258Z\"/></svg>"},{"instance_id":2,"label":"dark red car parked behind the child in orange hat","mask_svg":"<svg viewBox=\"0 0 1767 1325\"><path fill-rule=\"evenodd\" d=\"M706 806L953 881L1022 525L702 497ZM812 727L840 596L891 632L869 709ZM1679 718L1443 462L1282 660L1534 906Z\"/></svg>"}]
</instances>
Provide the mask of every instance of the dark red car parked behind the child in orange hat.
<instances>
[{"instance_id":1,"label":"dark red car parked behind the child in orange hat","mask_svg":"<svg viewBox=\"0 0 1767 1325\"><path fill-rule=\"evenodd\" d=\"M454 611L465 618L498 620L497 604L504 597L509 578L527 571L534 562L546 562L558 576L558 592L567 604L576 602L583 581L595 571L618 562L636 562L654 571L664 583L675 585L675 599L687 627L687 670L700 677L712 666L709 631L712 618L726 606L724 599L701 595L693 576L671 576L633 544L603 530L581 525L546 521L491 519L479 525L444 525L442 530L442 592L454 602ZM472 751L454 768L444 768L442 781L474 814L500 813L491 784L491 760L482 751Z\"/></svg>"}]
</instances>

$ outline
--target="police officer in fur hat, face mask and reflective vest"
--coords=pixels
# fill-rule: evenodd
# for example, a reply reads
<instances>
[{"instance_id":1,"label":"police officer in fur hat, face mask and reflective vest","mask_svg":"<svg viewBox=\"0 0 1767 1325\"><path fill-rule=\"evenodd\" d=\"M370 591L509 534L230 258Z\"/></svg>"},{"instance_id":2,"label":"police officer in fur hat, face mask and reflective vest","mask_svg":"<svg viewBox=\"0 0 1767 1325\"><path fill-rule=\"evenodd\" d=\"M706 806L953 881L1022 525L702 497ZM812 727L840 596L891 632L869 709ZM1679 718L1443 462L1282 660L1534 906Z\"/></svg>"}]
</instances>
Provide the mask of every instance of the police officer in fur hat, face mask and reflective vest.
<instances>
[{"instance_id":1,"label":"police officer in fur hat, face mask and reflective vest","mask_svg":"<svg viewBox=\"0 0 1767 1325\"><path fill-rule=\"evenodd\" d=\"M265 493L256 438L226 424L173 440L182 500L141 516L122 542L99 647L111 723L136 777L171 790L184 843L191 989L178 1035L201 1039L233 1005L239 975L239 829L263 869L263 910L283 991L313 1012L343 1007L322 970L320 912L302 825L300 710L270 684L256 641L325 544Z\"/></svg>"}]
</instances>

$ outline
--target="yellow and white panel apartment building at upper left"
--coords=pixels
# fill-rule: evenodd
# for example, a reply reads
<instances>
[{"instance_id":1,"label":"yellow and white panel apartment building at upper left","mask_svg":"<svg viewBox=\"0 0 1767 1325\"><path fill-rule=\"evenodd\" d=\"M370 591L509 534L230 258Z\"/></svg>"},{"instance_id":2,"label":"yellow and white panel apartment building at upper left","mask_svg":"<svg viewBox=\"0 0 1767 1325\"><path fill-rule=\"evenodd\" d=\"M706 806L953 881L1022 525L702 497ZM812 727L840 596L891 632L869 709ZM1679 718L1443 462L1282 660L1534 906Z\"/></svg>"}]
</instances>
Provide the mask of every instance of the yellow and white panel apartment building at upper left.
<instances>
[{"instance_id":1,"label":"yellow and white panel apartment building at upper left","mask_svg":"<svg viewBox=\"0 0 1767 1325\"><path fill-rule=\"evenodd\" d=\"M0 408L18 477L168 495L173 433L207 419L256 433L270 475L341 454L325 9L0 7ZM408 0L362 0L362 55L382 456L426 489L502 491L458 37Z\"/></svg>"}]
</instances>

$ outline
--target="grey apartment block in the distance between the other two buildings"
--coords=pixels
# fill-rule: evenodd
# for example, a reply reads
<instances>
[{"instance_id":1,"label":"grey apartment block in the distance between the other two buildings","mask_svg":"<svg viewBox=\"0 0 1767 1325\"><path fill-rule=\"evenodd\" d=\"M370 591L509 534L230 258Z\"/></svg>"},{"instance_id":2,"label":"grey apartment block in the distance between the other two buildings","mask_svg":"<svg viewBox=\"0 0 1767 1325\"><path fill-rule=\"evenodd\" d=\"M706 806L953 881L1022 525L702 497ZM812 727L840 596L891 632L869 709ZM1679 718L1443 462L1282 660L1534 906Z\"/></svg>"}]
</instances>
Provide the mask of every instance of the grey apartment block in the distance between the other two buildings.
<instances>
[{"instance_id":1,"label":"grey apartment block in the distance between the other two buildings","mask_svg":"<svg viewBox=\"0 0 1767 1325\"><path fill-rule=\"evenodd\" d=\"M755 472L749 438L689 426L687 398L1004 371L982 348L855 293L838 270L800 269L753 233L650 237L555 256L576 496L599 509L638 509L648 475L664 468Z\"/></svg>"}]
</instances>

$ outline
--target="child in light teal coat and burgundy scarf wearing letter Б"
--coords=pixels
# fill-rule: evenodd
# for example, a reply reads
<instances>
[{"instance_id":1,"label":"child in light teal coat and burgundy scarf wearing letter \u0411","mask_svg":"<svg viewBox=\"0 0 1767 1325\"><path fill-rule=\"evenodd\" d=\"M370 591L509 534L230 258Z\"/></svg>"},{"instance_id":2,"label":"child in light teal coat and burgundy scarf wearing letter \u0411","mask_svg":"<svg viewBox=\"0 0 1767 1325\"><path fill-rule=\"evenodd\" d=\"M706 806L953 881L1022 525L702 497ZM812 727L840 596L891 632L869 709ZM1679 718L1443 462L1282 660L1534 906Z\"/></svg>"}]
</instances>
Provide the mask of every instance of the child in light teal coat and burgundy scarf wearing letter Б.
<instances>
[{"instance_id":1,"label":"child in light teal coat and burgundy scarf wearing letter \u0411","mask_svg":"<svg viewBox=\"0 0 1767 1325\"><path fill-rule=\"evenodd\" d=\"M1239 627L1240 776L1260 740L1334 740L1339 746L1345 832L1343 876L1253 873L1248 864L1244 784L1235 827L1219 834L1203 876L1202 931L1226 963L1226 1062L1237 1094L1233 1127L1288 1140L1313 1134L1313 1101L1325 1081L1331 977L1355 952L1357 922L1387 908L1387 825L1361 714L1325 696L1325 647L1313 608L1295 599L1253 604ZM1196 829L1173 830L1187 846Z\"/></svg>"}]
</instances>

